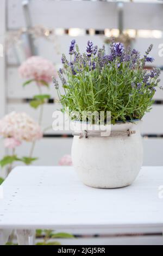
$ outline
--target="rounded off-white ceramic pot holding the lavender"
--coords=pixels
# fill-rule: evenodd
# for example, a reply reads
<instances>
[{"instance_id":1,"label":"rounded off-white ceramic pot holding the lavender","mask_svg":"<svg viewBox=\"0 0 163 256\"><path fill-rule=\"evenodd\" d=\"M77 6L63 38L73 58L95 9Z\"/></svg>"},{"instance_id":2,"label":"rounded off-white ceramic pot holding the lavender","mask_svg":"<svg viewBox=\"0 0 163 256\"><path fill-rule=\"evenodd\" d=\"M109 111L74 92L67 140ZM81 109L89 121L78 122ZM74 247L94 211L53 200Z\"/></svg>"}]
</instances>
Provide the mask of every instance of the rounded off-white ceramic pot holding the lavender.
<instances>
[{"instance_id":1,"label":"rounded off-white ceramic pot holding the lavender","mask_svg":"<svg viewBox=\"0 0 163 256\"><path fill-rule=\"evenodd\" d=\"M135 131L135 134L124 135L128 129ZM117 135L73 138L73 166L79 178L88 186L124 187L130 185L139 174L143 161L140 121L111 125L111 133Z\"/></svg>"}]
</instances>

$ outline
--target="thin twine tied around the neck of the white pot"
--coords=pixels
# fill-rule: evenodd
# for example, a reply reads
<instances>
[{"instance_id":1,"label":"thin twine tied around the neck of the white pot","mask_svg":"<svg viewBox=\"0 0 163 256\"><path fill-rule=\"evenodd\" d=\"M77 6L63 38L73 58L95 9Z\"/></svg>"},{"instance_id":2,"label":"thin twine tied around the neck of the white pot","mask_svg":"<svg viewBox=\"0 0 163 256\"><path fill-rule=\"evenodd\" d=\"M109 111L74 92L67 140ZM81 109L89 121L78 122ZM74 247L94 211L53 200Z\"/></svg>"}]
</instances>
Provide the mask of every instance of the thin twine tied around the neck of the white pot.
<instances>
[{"instance_id":1,"label":"thin twine tied around the neck of the white pot","mask_svg":"<svg viewBox=\"0 0 163 256\"><path fill-rule=\"evenodd\" d=\"M135 134L136 131L131 131L131 130L127 130L127 131L117 131L117 132L111 132L109 136L103 136L103 137L112 137L112 136L121 136L121 135L127 135L127 136L131 136L133 134ZM88 137L101 137L101 131L82 131L82 132L74 132L73 136L79 136L79 138L88 138Z\"/></svg>"}]
</instances>

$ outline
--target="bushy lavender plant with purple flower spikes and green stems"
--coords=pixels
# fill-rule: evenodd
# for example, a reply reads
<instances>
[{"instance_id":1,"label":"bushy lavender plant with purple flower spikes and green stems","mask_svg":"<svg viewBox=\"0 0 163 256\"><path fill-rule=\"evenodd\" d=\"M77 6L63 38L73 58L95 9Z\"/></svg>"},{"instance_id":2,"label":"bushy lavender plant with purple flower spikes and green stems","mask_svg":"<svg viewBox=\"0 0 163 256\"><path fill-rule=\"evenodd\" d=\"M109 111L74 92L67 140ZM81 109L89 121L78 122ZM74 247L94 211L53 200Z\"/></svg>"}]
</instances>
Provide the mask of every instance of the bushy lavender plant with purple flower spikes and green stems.
<instances>
[{"instance_id":1,"label":"bushy lavender plant with purple flower spikes and green stems","mask_svg":"<svg viewBox=\"0 0 163 256\"><path fill-rule=\"evenodd\" d=\"M65 94L61 95L58 81L53 83L58 91L63 110L79 112L111 111L111 123L141 119L150 111L153 95L159 83L159 69L146 70L153 45L145 55L121 42L112 41L110 54L105 47L93 46L87 42L86 52L81 54L75 40L72 40L70 61L62 54L63 69L58 71Z\"/></svg>"}]
</instances>

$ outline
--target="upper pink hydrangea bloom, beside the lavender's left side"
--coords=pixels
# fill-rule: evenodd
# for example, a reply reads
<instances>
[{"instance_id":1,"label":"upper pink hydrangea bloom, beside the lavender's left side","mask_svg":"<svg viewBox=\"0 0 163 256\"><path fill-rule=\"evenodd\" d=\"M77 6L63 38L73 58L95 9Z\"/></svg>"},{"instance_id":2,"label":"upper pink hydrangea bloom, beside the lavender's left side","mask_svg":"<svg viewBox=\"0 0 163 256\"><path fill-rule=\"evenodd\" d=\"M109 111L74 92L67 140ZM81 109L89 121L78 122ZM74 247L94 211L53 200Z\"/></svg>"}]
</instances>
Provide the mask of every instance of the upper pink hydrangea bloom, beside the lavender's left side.
<instances>
[{"instance_id":1,"label":"upper pink hydrangea bloom, beside the lavender's left side","mask_svg":"<svg viewBox=\"0 0 163 256\"><path fill-rule=\"evenodd\" d=\"M52 76L56 76L54 65L51 61L40 56L32 56L22 63L18 69L23 78L35 79L37 81L52 82Z\"/></svg>"}]
</instances>

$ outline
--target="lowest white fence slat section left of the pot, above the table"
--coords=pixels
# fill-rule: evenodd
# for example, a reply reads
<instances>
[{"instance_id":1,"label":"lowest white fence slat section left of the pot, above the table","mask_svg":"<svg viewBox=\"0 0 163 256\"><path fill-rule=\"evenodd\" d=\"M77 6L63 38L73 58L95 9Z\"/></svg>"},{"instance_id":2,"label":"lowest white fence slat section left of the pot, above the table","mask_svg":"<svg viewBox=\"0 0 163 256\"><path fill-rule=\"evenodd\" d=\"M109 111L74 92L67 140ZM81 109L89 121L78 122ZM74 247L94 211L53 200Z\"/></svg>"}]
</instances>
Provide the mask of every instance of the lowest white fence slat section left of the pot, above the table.
<instances>
[{"instance_id":1,"label":"lowest white fence slat section left of the pot, above the table","mask_svg":"<svg viewBox=\"0 0 163 256\"><path fill-rule=\"evenodd\" d=\"M43 138L37 141L34 150L34 157L38 160L33 165L55 166L64 155L71 154L72 138ZM28 156L31 143L23 143L21 147L16 149L18 156ZM45 151L47 152L45 156ZM16 163L21 164L21 163Z\"/></svg>"}]
</instances>

